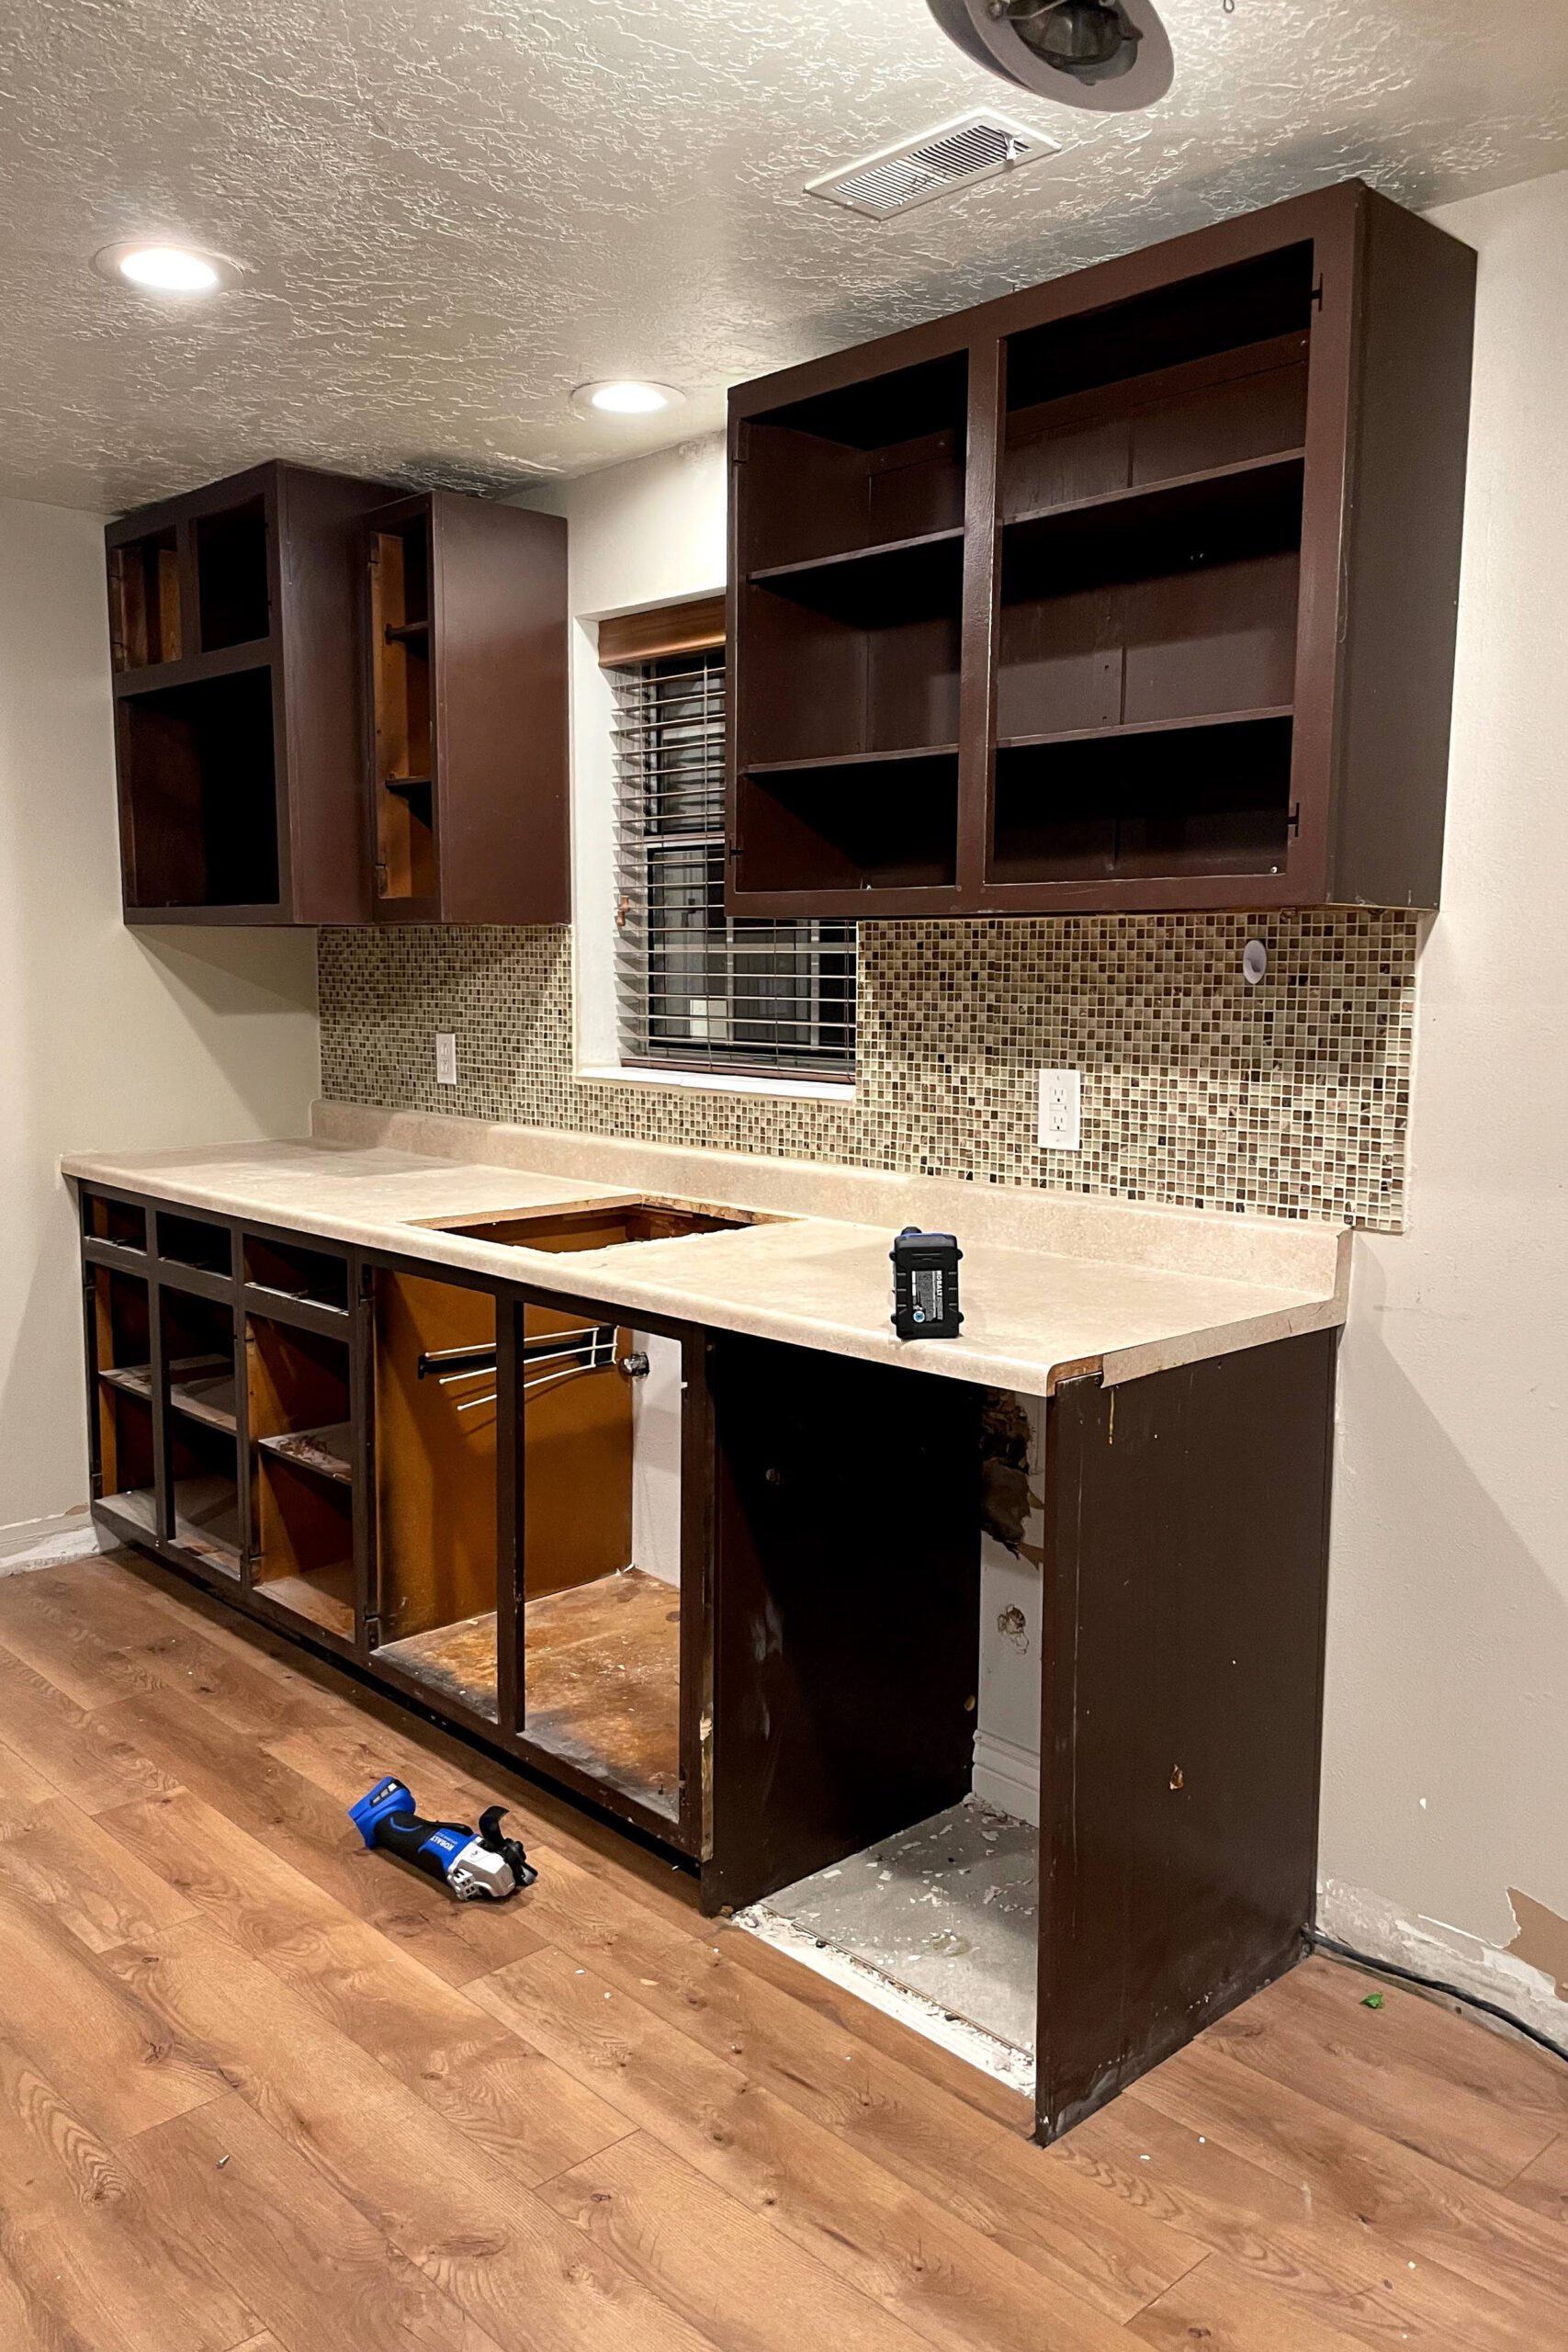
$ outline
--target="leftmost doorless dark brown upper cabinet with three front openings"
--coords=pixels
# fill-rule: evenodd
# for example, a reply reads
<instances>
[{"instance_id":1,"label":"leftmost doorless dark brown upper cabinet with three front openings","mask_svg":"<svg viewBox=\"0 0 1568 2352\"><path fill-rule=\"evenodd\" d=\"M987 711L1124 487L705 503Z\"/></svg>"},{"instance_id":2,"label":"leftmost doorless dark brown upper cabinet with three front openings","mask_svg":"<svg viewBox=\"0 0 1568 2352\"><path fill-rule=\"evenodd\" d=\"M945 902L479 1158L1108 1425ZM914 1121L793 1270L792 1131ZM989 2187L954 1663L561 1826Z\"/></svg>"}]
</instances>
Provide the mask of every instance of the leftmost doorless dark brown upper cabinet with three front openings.
<instances>
[{"instance_id":1,"label":"leftmost doorless dark brown upper cabinet with three front openings","mask_svg":"<svg viewBox=\"0 0 1568 2352\"><path fill-rule=\"evenodd\" d=\"M303 466L108 524L127 922L364 922L360 517Z\"/></svg>"}]
</instances>

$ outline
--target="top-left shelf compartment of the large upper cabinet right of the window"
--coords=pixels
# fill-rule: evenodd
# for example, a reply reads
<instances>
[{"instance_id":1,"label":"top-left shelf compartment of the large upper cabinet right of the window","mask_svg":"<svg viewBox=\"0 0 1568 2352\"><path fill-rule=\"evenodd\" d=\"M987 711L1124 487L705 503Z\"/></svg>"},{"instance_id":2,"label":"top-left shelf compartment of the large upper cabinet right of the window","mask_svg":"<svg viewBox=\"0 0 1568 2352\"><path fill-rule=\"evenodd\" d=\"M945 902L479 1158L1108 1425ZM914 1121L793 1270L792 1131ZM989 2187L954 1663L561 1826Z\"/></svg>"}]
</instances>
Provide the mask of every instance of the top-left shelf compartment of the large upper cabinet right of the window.
<instances>
[{"instance_id":1,"label":"top-left shelf compartment of the large upper cabinet right of the window","mask_svg":"<svg viewBox=\"0 0 1568 2352\"><path fill-rule=\"evenodd\" d=\"M745 428L741 564L799 564L964 524L969 355L799 400Z\"/></svg>"}]
</instances>

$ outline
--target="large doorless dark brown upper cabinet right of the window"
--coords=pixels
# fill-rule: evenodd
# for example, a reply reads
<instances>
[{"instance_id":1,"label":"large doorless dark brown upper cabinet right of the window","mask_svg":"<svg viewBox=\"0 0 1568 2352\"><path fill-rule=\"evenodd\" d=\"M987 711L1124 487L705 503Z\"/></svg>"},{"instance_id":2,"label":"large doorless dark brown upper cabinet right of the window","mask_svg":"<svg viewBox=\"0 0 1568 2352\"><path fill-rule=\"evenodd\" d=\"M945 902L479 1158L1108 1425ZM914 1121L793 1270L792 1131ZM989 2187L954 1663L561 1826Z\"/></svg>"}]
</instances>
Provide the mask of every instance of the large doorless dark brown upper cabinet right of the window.
<instances>
[{"instance_id":1,"label":"large doorless dark brown upper cabinet right of the window","mask_svg":"<svg viewBox=\"0 0 1568 2352\"><path fill-rule=\"evenodd\" d=\"M729 910L1436 906L1472 308L1347 181L733 390Z\"/></svg>"}]
</instances>

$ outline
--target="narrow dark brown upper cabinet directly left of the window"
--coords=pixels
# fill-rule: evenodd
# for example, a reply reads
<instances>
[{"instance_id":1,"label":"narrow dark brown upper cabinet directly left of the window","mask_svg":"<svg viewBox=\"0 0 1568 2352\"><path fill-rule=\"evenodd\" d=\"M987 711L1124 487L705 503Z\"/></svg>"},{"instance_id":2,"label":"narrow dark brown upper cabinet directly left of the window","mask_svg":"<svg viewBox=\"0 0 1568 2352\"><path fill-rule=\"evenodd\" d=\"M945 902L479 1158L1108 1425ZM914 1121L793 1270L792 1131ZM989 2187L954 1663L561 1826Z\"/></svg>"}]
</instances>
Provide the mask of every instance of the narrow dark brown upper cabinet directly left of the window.
<instances>
[{"instance_id":1,"label":"narrow dark brown upper cabinet directly left of the window","mask_svg":"<svg viewBox=\"0 0 1568 2352\"><path fill-rule=\"evenodd\" d=\"M569 922L564 520L437 489L362 543L376 922Z\"/></svg>"}]
</instances>

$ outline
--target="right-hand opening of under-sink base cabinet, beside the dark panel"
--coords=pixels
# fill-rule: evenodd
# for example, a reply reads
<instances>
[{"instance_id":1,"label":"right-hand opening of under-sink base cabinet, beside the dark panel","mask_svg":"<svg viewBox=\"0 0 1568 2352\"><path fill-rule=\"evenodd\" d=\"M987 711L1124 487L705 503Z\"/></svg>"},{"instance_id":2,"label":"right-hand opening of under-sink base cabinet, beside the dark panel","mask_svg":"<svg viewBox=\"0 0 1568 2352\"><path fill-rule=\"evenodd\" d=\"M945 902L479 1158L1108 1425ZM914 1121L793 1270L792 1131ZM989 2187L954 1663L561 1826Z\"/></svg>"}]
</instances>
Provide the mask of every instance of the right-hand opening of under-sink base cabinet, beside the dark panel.
<instances>
[{"instance_id":1,"label":"right-hand opening of under-sink base cabinet, beside the dark panel","mask_svg":"<svg viewBox=\"0 0 1568 2352\"><path fill-rule=\"evenodd\" d=\"M522 1731L679 1818L682 1348L529 1303Z\"/></svg>"}]
</instances>

